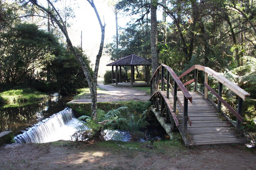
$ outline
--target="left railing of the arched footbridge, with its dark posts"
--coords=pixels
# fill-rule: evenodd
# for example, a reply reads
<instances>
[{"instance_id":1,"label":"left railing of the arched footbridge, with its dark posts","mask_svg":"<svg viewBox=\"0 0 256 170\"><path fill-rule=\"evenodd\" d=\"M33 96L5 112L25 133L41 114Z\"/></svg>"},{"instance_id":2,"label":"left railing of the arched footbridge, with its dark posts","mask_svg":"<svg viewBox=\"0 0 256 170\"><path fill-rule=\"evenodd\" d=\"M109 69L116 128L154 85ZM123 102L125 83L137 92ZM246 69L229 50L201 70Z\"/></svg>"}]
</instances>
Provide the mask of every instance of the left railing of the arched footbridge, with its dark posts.
<instances>
[{"instance_id":1,"label":"left railing of the arched footbridge, with its dark posts","mask_svg":"<svg viewBox=\"0 0 256 170\"><path fill-rule=\"evenodd\" d=\"M161 72L161 79L160 79L160 75L159 75L160 72ZM172 79L173 79L173 87L170 84L170 77L172 77ZM160 84L161 84L161 89L159 89ZM151 98L156 94L160 94L161 96L164 96L164 93L163 93L163 91L165 91L164 84L166 85L166 100L169 99L170 89L173 92L173 108L172 108L173 113L176 112L177 101L183 111L183 133L186 134L187 133L187 122L189 122L190 126L192 123L190 118L188 117L188 100L192 103L192 96L189 94L188 90L182 84L182 82L180 81L178 76L175 74L175 72L167 65L162 64L156 69L155 73L153 74L152 78L150 79L150 96L151 96ZM180 89L180 91L183 93L183 96L184 96L183 105L181 104L180 99L177 96L178 88ZM164 103L166 103L168 101L168 100L165 101L164 97L162 97L162 98L163 98ZM169 103L169 101L168 101L168 103ZM162 108L161 109L161 112L162 112L163 107L160 107L160 108ZM174 116L174 115L175 114L171 114L171 116ZM174 117L173 117L173 119L174 119ZM177 122L175 122L175 123L177 123ZM177 124L176 124L176 126L177 126Z\"/></svg>"}]
</instances>

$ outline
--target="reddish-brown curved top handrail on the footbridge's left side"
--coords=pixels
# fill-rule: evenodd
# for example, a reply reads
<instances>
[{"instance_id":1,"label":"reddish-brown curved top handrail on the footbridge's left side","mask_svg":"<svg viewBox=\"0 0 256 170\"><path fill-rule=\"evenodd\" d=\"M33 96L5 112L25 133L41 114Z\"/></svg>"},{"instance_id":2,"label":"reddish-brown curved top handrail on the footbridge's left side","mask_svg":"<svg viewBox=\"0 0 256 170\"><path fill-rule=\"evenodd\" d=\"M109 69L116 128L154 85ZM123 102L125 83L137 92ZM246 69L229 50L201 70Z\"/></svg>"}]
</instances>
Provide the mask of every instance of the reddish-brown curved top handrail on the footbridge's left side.
<instances>
[{"instance_id":1,"label":"reddish-brown curved top handrail on the footbridge's left side","mask_svg":"<svg viewBox=\"0 0 256 170\"><path fill-rule=\"evenodd\" d=\"M186 99L188 99L191 103L192 103L192 96L189 94L188 90L186 89L186 87L183 85L183 83L180 81L180 78L178 78L178 76L176 75L176 73L167 65L165 64L161 64L155 71L155 73L152 75L151 79L149 82L152 82L154 76L156 76L157 72L159 72L159 70L164 67L169 74L172 76L172 78L174 79L174 81L177 83L177 85L180 87L181 92L184 94L184 96L186 97Z\"/></svg>"}]
</instances>

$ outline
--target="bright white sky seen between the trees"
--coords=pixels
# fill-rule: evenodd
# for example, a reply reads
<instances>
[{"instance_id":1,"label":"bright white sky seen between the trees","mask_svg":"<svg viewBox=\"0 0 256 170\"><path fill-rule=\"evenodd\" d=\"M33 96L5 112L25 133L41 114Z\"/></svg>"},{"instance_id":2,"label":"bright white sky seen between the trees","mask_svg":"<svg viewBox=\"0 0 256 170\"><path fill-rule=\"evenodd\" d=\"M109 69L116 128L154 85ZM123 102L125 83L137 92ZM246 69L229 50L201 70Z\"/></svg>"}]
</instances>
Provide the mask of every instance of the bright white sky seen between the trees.
<instances>
[{"instance_id":1,"label":"bright white sky seen between the trees","mask_svg":"<svg viewBox=\"0 0 256 170\"><path fill-rule=\"evenodd\" d=\"M99 50L101 30L96 14L91 5L86 0L76 1L77 5L74 8L76 18L72 20L72 26L68 29L70 39L75 46L81 44L81 31L83 49L92 61L95 63L96 55ZM105 0L95 0L94 4L98 10L101 21L106 24L104 45L113 41L113 36L116 34L116 21L113 10L108 6ZM77 7L79 6L79 8ZM118 18L118 26L124 27L127 20ZM99 75L104 75L106 70L111 67L106 66L110 63L110 56L103 54L100 60Z\"/></svg>"}]
</instances>

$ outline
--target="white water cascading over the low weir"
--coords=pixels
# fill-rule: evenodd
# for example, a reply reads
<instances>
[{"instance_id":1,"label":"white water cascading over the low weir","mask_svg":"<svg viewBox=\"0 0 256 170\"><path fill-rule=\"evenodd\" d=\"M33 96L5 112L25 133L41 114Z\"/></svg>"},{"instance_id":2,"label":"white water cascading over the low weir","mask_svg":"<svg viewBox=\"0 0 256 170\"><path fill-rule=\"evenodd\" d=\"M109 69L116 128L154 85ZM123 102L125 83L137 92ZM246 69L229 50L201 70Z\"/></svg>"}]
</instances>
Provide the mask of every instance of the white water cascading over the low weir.
<instances>
[{"instance_id":1,"label":"white water cascading over the low weir","mask_svg":"<svg viewBox=\"0 0 256 170\"><path fill-rule=\"evenodd\" d=\"M81 122L74 118L71 108L56 113L41 122L36 123L26 131L14 137L17 143L46 143L57 140L71 140L76 127Z\"/></svg>"}]
</instances>

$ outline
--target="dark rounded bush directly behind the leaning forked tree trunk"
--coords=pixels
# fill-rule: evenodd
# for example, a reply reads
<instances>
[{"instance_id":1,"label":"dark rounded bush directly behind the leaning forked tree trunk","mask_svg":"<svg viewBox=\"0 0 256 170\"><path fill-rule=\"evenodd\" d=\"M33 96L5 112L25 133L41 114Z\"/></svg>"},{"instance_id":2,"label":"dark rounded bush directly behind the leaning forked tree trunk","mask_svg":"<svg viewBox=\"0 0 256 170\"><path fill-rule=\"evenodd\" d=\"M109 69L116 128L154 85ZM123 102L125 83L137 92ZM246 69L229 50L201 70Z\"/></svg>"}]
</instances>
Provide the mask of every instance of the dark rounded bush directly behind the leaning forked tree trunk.
<instances>
[{"instance_id":1,"label":"dark rounded bush directly behind the leaning forked tree trunk","mask_svg":"<svg viewBox=\"0 0 256 170\"><path fill-rule=\"evenodd\" d=\"M90 60L78 48L76 51L80 53L92 75ZM45 61L44 68L40 72L41 78L47 78L55 91L65 95L76 94L76 89L88 87L80 64L71 51L67 51L62 46L54 55L52 60Z\"/></svg>"}]
</instances>

